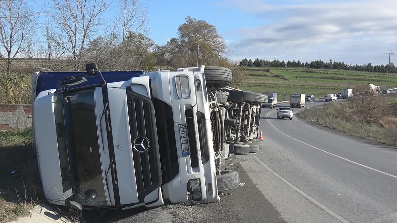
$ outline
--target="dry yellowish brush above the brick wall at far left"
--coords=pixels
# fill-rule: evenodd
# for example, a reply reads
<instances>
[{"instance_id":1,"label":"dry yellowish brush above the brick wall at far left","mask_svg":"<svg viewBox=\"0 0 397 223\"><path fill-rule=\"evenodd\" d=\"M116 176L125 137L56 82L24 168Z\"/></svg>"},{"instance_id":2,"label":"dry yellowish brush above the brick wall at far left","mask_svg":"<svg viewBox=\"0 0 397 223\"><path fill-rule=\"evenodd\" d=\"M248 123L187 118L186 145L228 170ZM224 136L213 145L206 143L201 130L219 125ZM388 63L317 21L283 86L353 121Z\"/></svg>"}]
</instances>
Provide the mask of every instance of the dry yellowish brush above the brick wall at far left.
<instances>
[{"instance_id":1,"label":"dry yellowish brush above the brick wall at far left","mask_svg":"<svg viewBox=\"0 0 397 223\"><path fill-rule=\"evenodd\" d=\"M31 78L28 75L2 73L0 104L31 104Z\"/></svg>"}]
</instances>

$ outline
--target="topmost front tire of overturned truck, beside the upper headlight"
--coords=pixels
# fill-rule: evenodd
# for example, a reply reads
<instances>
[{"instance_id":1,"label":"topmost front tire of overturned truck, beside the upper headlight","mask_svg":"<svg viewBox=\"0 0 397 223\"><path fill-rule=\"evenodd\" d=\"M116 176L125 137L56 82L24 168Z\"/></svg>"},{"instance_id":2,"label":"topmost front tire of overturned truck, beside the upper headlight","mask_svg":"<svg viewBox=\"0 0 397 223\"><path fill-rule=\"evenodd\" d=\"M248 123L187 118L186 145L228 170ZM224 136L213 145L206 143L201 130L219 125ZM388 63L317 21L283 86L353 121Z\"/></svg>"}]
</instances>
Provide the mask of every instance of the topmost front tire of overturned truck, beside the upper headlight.
<instances>
[{"instance_id":1,"label":"topmost front tire of overturned truck, beside the upper headlight","mask_svg":"<svg viewBox=\"0 0 397 223\"><path fill-rule=\"evenodd\" d=\"M231 70L226 67L204 67L204 76L207 86L215 90L229 86L233 80Z\"/></svg>"}]
</instances>

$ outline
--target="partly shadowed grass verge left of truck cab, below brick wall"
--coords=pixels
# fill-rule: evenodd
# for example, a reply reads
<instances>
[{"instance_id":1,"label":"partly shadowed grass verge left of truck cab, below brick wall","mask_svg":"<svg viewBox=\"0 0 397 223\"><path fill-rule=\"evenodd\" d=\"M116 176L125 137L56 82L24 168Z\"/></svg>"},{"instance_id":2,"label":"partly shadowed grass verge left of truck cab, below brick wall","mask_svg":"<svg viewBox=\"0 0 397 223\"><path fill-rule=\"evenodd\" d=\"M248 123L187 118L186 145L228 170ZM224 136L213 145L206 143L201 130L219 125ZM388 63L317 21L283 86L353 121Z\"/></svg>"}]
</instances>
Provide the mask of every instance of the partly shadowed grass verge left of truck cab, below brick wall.
<instances>
[{"instance_id":1,"label":"partly shadowed grass verge left of truck cab, below brick wall","mask_svg":"<svg viewBox=\"0 0 397 223\"><path fill-rule=\"evenodd\" d=\"M27 215L42 197L31 129L0 132L0 223Z\"/></svg>"}]
</instances>

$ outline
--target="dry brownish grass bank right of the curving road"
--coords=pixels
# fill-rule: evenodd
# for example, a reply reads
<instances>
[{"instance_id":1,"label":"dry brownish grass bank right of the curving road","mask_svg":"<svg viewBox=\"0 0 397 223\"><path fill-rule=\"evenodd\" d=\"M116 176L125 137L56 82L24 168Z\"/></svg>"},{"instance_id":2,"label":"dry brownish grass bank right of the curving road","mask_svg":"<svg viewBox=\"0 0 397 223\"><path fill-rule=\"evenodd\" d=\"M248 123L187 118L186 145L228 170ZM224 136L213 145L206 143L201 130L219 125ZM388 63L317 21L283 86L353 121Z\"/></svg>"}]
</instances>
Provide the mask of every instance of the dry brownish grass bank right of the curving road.
<instances>
[{"instance_id":1,"label":"dry brownish grass bank right of the curving road","mask_svg":"<svg viewBox=\"0 0 397 223\"><path fill-rule=\"evenodd\" d=\"M395 96L383 97L386 99L384 106L390 106L387 101L394 100ZM350 135L397 146L397 117L390 113L372 123L362 123L356 100L353 98L308 108L299 116Z\"/></svg>"}]
</instances>

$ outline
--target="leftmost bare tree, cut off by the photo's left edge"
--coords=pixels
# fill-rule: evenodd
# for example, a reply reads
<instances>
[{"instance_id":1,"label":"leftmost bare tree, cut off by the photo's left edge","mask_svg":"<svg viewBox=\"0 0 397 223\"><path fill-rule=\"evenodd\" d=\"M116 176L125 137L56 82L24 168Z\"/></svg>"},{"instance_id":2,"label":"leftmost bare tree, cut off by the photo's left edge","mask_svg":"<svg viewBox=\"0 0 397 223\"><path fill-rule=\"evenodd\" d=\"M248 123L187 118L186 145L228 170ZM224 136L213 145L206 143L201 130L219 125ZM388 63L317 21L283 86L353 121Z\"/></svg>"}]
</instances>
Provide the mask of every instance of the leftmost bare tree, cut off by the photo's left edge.
<instances>
[{"instance_id":1,"label":"leftmost bare tree, cut off by the photo's left edge","mask_svg":"<svg viewBox=\"0 0 397 223\"><path fill-rule=\"evenodd\" d=\"M27 1L0 1L0 66L7 75L10 75L14 59L28 49L36 19L37 14Z\"/></svg>"}]
</instances>

